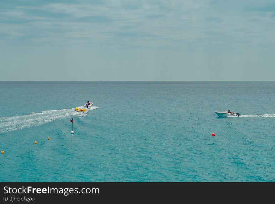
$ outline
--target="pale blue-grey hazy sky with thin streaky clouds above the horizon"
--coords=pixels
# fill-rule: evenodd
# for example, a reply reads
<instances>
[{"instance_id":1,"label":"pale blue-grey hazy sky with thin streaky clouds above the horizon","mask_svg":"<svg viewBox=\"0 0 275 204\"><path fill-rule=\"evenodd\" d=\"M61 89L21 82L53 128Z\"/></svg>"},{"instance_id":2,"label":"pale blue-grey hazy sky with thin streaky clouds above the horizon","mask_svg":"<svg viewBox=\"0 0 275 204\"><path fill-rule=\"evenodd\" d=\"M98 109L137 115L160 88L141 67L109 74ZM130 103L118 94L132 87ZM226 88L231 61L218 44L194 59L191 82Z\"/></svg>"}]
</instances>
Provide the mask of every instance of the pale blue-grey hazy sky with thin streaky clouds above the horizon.
<instances>
[{"instance_id":1,"label":"pale blue-grey hazy sky with thin streaky clouds above the horizon","mask_svg":"<svg viewBox=\"0 0 275 204\"><path fill-rule=\"evenodd\" d=\"M0 1L0 81L274 81L274 0Z\"/></svg>"}]
</instances>

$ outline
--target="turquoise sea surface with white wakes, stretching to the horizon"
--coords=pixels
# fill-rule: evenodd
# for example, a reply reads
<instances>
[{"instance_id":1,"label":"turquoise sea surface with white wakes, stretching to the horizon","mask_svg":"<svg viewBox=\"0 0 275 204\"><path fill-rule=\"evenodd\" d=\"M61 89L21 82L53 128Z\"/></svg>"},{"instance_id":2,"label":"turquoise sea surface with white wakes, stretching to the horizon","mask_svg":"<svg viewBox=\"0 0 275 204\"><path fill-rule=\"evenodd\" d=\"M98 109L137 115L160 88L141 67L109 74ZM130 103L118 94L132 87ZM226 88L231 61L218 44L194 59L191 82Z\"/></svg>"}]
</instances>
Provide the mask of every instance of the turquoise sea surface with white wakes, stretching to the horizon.
<instances>
[{"instance_id":1,"label":"turquoise sea surface with white wakes, stretching to the horizon","mask_svg":"<svg viewBox=\"0 0 275 204\"><path fill-rule=\"evenodd\" d=\"M275 82L0 82L0 181L275 182L274 105Z\"/></svg>"}]
</instances>

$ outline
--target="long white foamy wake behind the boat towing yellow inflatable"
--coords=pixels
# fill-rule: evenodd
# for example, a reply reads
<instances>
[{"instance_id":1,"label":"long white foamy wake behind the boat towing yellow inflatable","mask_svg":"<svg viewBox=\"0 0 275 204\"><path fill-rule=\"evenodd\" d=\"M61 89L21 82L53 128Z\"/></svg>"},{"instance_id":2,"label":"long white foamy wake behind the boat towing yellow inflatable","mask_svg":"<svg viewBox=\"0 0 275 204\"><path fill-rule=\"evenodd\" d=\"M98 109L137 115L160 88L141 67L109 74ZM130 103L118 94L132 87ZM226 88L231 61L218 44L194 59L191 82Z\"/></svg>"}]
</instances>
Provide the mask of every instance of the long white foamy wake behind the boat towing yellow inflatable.
<instances>
[{"instance_id":1,"label":"long white foamy wake behind the boat towing yellow inflatable","mask_svg":"<svg viewBox=\"0 0 275 204\"><path fill-rule=\"evenodd\" d=\"M92 106L85 113L75 112L74 108L42 111L40 113L31 113L24 116L0 117L0 134L9 131L22 130L26 127L34 127L43 125L62 118L85 117L89 110L94 110L98 107Z\"/></svg>"}]
</instances>

